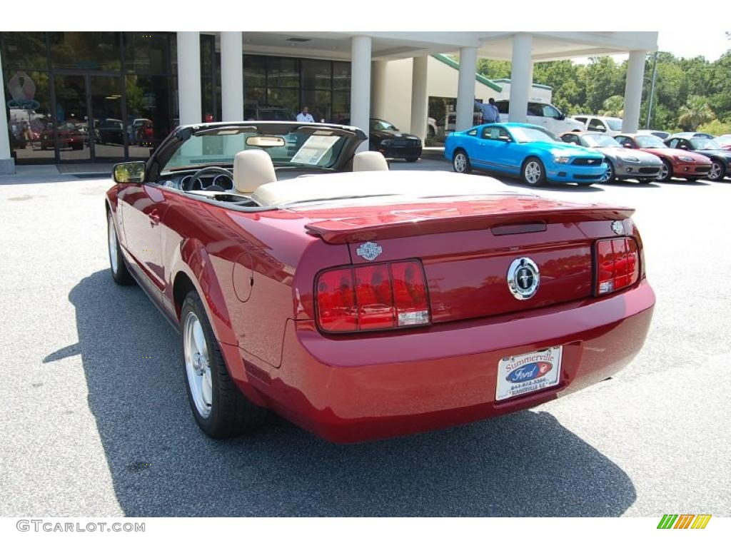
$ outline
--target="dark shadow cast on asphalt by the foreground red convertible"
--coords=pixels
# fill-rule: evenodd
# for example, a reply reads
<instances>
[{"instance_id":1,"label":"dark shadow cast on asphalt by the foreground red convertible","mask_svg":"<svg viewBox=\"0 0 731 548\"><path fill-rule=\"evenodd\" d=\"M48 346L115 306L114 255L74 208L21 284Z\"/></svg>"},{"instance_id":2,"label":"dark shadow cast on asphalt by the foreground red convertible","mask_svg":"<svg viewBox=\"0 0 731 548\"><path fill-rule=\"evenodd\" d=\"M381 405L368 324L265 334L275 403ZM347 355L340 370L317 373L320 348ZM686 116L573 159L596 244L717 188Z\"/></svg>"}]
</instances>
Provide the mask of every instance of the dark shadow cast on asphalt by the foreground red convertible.
<instances>
[{"instance_id":1,"label":"dark shadow cast on asphalt by the foreground red convertible","mask_svg":"<svg viewBox=\"0 0 731 548\"><path fill-rule=\"evenodd\" d=\"M80 342L45 362L81 354L128 516L618 516L635 501L626 473L545 412L349 446L282 420L213 441L178 335L138 287L102 270L69 300Z\"/></svg>"}]
</instances>

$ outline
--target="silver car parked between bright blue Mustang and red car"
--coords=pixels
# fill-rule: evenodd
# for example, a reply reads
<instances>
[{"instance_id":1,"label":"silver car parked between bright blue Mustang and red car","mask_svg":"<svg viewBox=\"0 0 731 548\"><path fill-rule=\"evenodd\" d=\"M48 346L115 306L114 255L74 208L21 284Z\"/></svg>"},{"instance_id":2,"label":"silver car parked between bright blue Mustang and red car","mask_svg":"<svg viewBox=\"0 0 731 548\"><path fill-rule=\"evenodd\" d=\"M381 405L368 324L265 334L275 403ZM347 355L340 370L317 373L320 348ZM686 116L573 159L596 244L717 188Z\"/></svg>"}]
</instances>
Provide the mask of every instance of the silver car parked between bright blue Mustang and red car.
<instances>
[{"instance_id":1,"label":"silver car parked between bright blue Mustang and red car","mask_svg":"<svg viewBox=\"0 0 731 548\"><path fill-rule=\"evenodd\" d=\"M602 180L603 183L624 179L649 183L660 175L662 160L654 154L628 150L610 135L598 132L569 132L561 134L560 138L574 145L594 148L607 157L607 175Z\"/></svg>"}]
</instances>

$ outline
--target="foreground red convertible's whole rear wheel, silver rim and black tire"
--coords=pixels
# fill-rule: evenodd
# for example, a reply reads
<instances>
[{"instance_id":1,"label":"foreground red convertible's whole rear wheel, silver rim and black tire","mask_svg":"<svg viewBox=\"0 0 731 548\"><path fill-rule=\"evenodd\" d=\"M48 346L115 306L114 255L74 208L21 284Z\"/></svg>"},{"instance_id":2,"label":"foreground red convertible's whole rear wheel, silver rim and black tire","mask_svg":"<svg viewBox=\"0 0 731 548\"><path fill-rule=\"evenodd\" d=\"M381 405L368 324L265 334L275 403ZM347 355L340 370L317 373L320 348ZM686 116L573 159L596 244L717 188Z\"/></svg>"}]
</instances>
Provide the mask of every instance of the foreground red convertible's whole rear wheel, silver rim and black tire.
<instances>
[{"instance_id":1,"label":"foreground red convertible's whole rear wheel, silver rim and black tire","mask_svg":"<svg viewBox=\"0 0 731 548\"><path fill-rule=\"evenodd\" d=\"M186 388L200 429L211 438L230 438L263 425L269 411L247 400L232 381L194 291L183 301L181 332Z\"/></svg>"}]
</instances>

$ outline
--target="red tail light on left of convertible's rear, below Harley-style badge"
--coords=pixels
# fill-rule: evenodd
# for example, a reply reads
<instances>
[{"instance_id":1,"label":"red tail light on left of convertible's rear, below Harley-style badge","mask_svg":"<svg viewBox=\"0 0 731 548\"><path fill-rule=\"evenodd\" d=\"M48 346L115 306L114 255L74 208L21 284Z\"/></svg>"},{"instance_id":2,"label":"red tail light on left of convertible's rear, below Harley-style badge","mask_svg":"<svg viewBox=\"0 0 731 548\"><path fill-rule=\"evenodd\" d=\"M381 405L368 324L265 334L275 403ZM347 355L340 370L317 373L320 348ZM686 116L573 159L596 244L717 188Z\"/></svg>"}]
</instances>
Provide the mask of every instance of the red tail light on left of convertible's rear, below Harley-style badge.
<instances>
[{"instance_id":1,"label":"red tail light on left of convertible's rear, below Harley-style badge","mask_svg":"<svg viewBox=\"0 0 731 548\"><path fill-rule=\"evenodd\" d=\"M417 260L325 270L317 276L315 300L317 324L327 332L416 327L431 316Z\"/></svg>"}]
</instances>

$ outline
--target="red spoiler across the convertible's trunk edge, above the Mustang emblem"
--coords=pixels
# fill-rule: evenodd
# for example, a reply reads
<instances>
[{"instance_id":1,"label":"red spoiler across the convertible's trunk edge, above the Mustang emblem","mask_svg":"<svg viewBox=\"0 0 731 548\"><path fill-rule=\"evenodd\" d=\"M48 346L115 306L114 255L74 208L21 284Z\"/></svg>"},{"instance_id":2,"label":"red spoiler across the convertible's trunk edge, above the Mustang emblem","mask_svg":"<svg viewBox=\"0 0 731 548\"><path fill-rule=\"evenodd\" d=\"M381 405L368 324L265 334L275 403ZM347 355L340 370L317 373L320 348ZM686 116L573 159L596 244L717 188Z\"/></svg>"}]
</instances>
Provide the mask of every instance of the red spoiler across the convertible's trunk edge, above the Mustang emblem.
<instances>
[{"instance_id":1,"label":"red spoiler across the convertible's trunk edge, above the Mustang emblem","mask_svg":"<svg viewBox=\"0 0 731 548\"><path fill-rule=\"evenodd\" d=\"M406 212L403 212L406 213ZM578 221L616 221L630 218L635 210L632 208L605 208L602 206L557 207L543 210L497 211L495 213L475 213L449 217L425 217L418 213L401 214L394 221L364 226L365 218L351 217L328 219L306 224L305 228L312 235L317 235L327 243L359 243L368 240L385 240L396 237L421 236L444 232L463 232L468 230L493 229L493 233L515 234L518 232L537 232L535 227L544 227L547 223L572 223ZM495 231L497 227L510 226L510 229ZM530 225L531 228L521 230L520 227Z\"/></svg>"}]
</instances>

